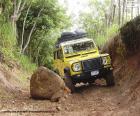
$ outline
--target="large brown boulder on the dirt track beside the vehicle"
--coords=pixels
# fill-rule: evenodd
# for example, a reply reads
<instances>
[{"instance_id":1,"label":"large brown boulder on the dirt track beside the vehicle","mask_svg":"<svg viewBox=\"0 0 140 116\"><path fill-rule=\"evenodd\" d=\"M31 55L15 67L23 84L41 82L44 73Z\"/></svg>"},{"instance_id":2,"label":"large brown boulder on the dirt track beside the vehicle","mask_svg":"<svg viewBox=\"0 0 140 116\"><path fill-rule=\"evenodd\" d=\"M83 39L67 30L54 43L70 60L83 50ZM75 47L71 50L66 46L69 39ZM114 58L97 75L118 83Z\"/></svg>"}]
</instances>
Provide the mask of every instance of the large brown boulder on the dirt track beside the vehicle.
<instances>
[{"instance_id":1,"label":"large brown boulder on the dirt track beside the vehicle","mask_svg":"<svg viewBox=\"0 0 140 116\"><path fill-rule=\"evenodd\" d=\"M39 67L30 80L30 94L35 99L58 101L70 93L61 77L45 67Z\"/></svg>"}]
</instances>

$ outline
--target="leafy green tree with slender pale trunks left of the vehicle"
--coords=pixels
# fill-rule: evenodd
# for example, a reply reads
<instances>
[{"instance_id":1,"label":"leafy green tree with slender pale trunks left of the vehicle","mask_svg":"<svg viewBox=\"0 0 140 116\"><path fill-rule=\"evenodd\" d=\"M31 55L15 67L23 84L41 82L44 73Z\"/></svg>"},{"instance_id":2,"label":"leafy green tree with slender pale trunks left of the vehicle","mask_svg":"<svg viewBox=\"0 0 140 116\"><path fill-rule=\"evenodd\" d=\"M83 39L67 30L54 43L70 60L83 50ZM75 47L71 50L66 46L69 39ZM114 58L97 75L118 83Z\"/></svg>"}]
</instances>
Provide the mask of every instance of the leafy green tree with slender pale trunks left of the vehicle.
<instances>
[{"instance_id":1,"label":"leafy green tree with slender pale trunks left of the vehicle","mask_svg":"<svg viewBox=\"0 0 140 116\"><path fill-rule=\"evenodd\" d=\"M25 6L17 22L21 53L38 65L51 62L54 43L69 25L69 17L57 0L36 0Z\"/></svg>"}]
</instances>

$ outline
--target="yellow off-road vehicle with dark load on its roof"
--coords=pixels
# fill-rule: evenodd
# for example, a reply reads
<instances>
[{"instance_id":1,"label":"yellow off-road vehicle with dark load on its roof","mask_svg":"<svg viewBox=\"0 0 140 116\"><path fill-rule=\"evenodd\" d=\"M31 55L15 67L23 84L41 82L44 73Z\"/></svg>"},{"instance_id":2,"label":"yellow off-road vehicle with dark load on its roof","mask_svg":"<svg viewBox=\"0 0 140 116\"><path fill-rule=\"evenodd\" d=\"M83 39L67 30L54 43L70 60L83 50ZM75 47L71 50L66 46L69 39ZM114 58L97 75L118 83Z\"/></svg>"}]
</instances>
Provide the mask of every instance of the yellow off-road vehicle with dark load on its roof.
<instances>
[{"instance_id":1,"label":"yellow off-road vehicle with dark load on its roof","mask_svg":"<svg viewBox=\"0 0 140 116\"><path fill-rule=\"evenodd\" d=\"M99 78L107 86L115 84L109 54L100 54L93 39L82 32L62 33L55 46L54 67L72 91L76 83L93 83Z\"/></svg>"}]
</instances>

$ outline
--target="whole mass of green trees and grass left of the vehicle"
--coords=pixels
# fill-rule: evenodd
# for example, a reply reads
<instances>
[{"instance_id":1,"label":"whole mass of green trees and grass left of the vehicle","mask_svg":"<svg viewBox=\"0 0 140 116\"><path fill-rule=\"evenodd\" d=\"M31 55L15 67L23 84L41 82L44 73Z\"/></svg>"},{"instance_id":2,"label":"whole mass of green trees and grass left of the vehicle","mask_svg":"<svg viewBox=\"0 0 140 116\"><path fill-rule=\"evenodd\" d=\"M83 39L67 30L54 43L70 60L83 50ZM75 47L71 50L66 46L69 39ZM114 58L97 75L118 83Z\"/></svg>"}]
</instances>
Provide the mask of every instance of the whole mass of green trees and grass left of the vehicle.
<instances>
[{"instance_id":1,"label":"whole mass of green trees and grass left of the vehicle","mask_svg":"<svg viewBox=\"0 0 140 116\"><path fill-rule=\"evenodd\" d=\"M1 0L0 52L27 71L52 68L54 43L69 20L57 0Z\"/></svg>"}]
</instances>

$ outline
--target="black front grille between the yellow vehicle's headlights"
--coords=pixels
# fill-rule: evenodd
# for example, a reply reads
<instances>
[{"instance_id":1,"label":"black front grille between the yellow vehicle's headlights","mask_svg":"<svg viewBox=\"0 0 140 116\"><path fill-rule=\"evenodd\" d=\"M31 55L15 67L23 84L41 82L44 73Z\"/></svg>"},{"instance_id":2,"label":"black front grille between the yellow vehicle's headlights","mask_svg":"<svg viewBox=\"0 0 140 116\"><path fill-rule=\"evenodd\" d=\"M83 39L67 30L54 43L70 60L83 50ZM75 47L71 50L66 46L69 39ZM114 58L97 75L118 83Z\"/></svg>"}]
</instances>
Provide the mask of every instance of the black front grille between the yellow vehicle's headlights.
<instances>
[{"instance_id":1,"label":"black front grille between the yellow vehicle's headlights","mask_svg":"<svg viewBox=\"0 0 140 116\"><path fill-rule=\"evenodd\" d=\"M101 58L89 59L82 62L83 71L99 70L101 68Z\"/></svg>"}]
</instances>

